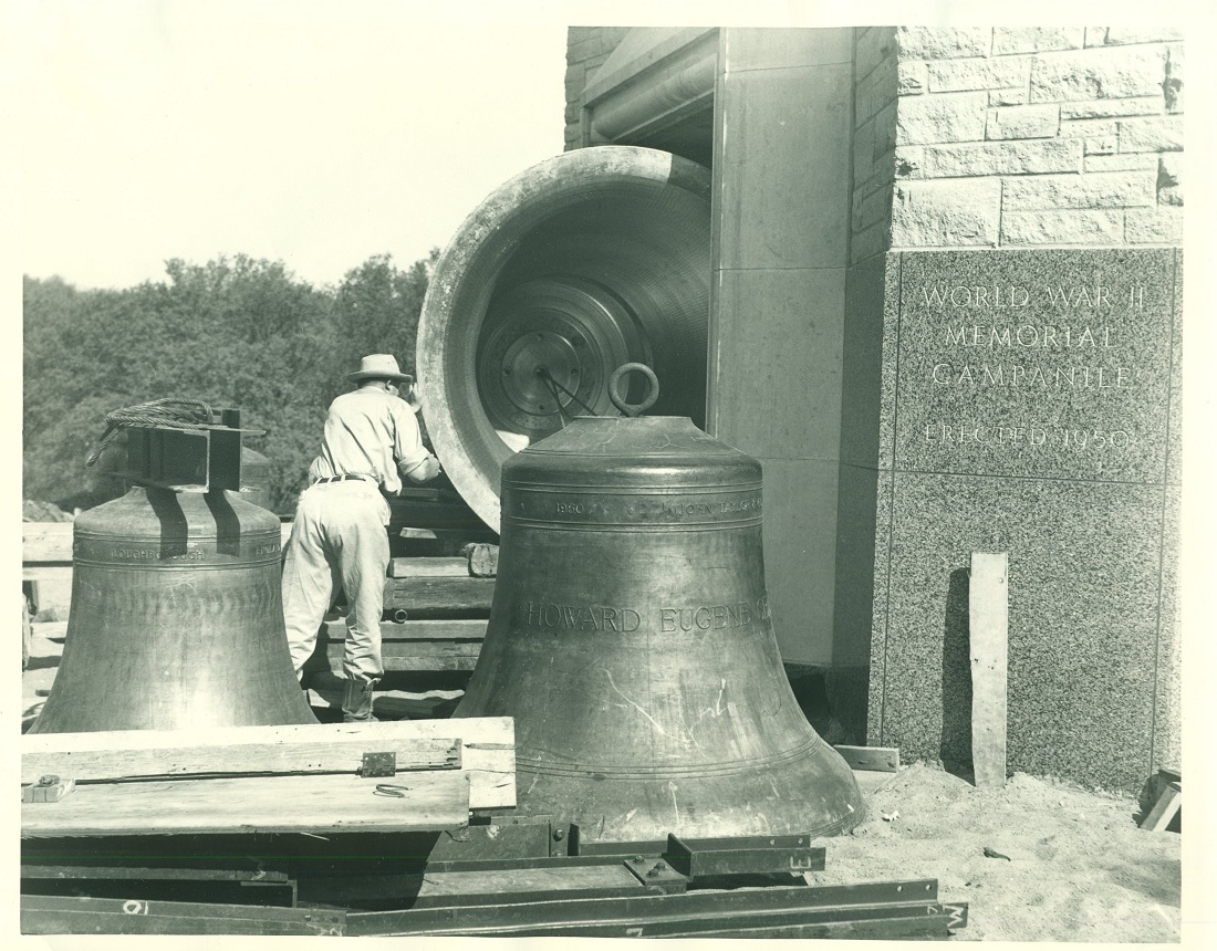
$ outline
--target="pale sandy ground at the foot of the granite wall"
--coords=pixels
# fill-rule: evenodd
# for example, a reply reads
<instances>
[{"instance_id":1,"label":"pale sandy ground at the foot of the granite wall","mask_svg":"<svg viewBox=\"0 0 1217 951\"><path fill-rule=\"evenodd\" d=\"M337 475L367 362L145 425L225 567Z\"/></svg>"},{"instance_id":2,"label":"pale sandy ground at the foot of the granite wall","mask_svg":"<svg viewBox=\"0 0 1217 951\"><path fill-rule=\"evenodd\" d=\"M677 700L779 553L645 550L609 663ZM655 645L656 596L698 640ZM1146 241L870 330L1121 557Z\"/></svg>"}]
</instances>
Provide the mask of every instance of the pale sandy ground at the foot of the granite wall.
<instances>
[{"instance_id":1,"label":"pale sandy ground at the foot of the granite wall","mask_svg":"<svg viewBox=\"0 0 1217 951\"><path fill-rule=\"evenodd\" d=\"M63 628L34 625L23 726L50 691ZM454 696L377 694L377 715L443 714ZM1022 773L981 790L925 764L856 776L868 817L824 840L825 868L808 874L812 884L937 879L940 901L969 905L957 941L1180 940L1182 835L1138 828L1135 798Z\"/></svg>"}]
</instances>

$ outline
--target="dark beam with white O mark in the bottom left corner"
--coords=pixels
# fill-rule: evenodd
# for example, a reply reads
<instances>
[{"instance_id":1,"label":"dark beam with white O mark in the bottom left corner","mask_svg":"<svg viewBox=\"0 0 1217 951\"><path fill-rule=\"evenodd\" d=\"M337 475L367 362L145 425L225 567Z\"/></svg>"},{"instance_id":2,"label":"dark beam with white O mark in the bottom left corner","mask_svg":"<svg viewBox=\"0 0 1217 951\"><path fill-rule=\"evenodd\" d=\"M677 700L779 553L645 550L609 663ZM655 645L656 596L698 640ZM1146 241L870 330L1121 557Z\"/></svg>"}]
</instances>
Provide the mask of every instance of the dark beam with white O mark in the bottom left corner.
<instances>
[{"instance_id":1,"label":"dark beam with white O mark in the bottom left corner","mask_svg":"<svg viewBox=\"0 0 1217 951\"><path fill-rule=\"evenodd\" d=\"M22 895L22 934L342 935L337 908L276 908L194 901Z\"/></svg>"}]
</instances>

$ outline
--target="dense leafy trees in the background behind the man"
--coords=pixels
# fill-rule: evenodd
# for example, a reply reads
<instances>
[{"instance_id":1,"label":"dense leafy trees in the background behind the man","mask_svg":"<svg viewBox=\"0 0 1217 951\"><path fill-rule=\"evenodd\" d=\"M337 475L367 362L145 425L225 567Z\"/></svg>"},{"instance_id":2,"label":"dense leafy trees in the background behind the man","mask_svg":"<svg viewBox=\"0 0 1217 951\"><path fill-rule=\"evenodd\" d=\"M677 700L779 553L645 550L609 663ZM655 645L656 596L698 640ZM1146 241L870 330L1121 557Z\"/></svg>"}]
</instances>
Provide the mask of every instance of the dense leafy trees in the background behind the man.
<instances>
[{"instance_id":1,"label":"dense leafy trees in the background behind the man","mask_svg":"<svg viewBox=\"0 0 1217 951\"><path fill-rule=\"evenodd\" d=\"M314 287L280 261L239 254L166 263L166 277L78 289L58 277L23 287L22 477L26 499L68 511L125 491L85 466L106 413L164 398L241 410L249 449L270 461L273 507L295 510L330 401L370 353L414 371L430 258L388 254Z\"/></svg>"}]
</instances>

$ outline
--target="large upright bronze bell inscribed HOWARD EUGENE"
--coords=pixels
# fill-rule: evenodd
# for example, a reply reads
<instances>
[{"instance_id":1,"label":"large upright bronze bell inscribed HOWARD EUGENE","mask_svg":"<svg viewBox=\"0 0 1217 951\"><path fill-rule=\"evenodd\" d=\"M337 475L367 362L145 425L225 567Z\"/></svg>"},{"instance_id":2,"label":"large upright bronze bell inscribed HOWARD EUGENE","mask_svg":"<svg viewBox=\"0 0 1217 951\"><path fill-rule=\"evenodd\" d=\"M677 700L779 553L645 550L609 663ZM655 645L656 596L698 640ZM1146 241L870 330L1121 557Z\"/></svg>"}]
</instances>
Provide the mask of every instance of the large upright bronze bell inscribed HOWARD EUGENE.
<instances>
[{"instance_id":1,"label":"large upright bronze bell inscribed HOWARD EUGENE","mask_svg":"<svg viewBox=\"0 0 1217 951\"><path fill-rule=\"evenodd\" d=\"M512 716L517 809L584 842L842 832L848 765L769 617L761 463L677 417L579 417L503 465L499 575L456 716Z\"/></svg>"}]
</instances>

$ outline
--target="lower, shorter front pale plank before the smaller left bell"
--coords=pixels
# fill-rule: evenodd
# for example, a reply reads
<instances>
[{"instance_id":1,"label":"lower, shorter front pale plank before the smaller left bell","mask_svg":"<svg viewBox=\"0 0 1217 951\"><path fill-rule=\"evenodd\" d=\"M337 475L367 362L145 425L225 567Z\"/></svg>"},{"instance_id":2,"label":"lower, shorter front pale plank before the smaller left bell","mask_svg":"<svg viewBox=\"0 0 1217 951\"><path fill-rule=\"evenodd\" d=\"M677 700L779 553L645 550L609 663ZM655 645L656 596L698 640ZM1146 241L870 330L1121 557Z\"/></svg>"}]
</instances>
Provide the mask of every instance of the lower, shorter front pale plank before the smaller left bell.
<instances>
[{"instance_id":1,"label":"lower, shorter front pale plank before the smaller left bell","mask_svg":"<svg viewBox=\"0 0 1217 951\"><path fill-rule=\"evenodd\" d=\"M392 783L403 797L375 793ZM77 786L60 803L21 809L22 835L180 835L262 832L434 832L469 825L467 777L392 780L273 776Z\"/></svg>"}]
</instances>

